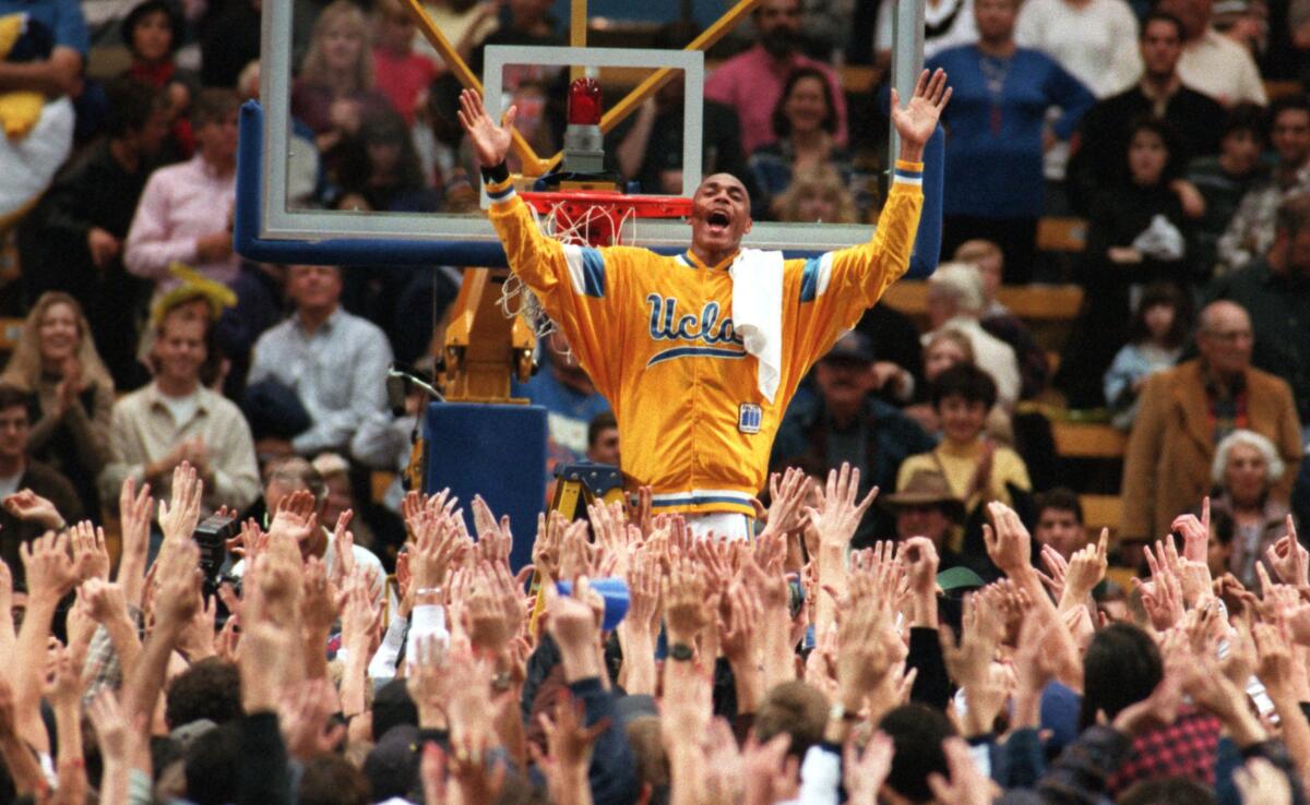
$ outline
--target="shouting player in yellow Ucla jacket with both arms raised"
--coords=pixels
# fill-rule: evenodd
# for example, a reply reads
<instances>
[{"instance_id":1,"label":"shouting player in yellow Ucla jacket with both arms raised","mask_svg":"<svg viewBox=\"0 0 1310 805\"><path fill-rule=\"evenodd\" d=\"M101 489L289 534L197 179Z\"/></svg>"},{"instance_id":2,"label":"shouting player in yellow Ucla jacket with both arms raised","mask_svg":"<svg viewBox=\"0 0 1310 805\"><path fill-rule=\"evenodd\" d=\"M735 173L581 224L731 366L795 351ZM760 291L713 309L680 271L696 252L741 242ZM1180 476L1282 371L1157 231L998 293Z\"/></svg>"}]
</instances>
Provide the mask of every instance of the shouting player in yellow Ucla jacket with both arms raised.
<instances>
[{"instance_id":1,"label":"shouting player in yellow Ucla jacket with both arms raised","mask_svg":"<svg viewBox=\"0 0 1310 805\"><path fill-rule=\"evenodd\" d=\"M924 147L950 97L942 71L924 71L905 107L892 90L900 157L871 241L785 260L741 249L751 200L722 173L696 188L692 247L677 257L546 237L504 162L515 107L496 126L482 98L464 92L460 123L510 267L613 407L622 470L651 487L656 513L681 512L700 534L749 534L751 501L796 385L909 266Z\"/></svg>"}]
</instances>

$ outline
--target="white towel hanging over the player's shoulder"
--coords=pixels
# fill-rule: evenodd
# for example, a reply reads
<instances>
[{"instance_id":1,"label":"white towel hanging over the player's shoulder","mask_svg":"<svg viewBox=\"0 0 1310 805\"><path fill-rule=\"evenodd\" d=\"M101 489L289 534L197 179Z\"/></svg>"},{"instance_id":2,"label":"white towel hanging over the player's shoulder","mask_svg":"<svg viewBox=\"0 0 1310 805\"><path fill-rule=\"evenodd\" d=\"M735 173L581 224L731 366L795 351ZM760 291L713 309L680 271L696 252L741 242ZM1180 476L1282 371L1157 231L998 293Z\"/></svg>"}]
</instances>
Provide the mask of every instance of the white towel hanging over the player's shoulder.
<instances>
[{"instance_id":1,"label":"white towel hanging over the player's shoulder","mask_svg":"<svg viewBox=\"0 0 1310 805\"><path fill-rule=\"evenodd\" d=\"M760 393L770 403L782 378L782 253L743 249L728 268L732 329L760 361Z\"/></svg>"}]
</instances>

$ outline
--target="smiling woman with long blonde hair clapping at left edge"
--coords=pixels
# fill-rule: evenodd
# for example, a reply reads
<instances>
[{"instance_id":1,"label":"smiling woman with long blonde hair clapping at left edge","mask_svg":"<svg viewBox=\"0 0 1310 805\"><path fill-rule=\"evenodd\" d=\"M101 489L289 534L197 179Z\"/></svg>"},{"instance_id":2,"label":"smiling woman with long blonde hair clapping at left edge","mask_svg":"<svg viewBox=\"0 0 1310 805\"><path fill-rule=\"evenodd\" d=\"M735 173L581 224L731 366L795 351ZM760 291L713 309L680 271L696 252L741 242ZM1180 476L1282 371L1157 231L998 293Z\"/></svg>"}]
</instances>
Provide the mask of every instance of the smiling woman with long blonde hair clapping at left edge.
<instances>
[{"instance_id":1,"label":"smiling woman with long blonde hair clapping at left edge","mask_svg":"<svg viewBox=\"0 0 1310 805\"><path fill-rule=\"evenodd\" d=\"M28 454L63 473L85 510L98 512L96 476L109 461L114 381L77 300L59 291L41 295L0 384L31 398Z\"/></svg>"}]
</instances>

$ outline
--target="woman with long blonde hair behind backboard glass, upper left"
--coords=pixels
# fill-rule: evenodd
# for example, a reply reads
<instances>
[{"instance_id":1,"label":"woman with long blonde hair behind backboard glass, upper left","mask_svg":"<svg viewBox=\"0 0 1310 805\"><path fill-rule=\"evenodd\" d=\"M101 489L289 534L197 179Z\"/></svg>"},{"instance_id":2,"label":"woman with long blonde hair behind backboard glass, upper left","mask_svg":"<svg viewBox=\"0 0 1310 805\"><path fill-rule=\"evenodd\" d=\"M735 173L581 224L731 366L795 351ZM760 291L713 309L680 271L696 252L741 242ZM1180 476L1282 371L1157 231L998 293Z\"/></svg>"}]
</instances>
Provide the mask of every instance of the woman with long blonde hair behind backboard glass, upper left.
<instances>
[{"instance_id":1,"label":"woman with long blonde hair behind backboard glass, upper left","mask_svg":"<svg viewBox=\"0 0 1310 805\"><path fill-rule=\"evenodd\" d=\"M314 132L325 157L354 136L369 113L390 109L375 89L372 29L350 0L318 14L300 75L291 89L291 114Z\"/></svg>"}]
</instances>

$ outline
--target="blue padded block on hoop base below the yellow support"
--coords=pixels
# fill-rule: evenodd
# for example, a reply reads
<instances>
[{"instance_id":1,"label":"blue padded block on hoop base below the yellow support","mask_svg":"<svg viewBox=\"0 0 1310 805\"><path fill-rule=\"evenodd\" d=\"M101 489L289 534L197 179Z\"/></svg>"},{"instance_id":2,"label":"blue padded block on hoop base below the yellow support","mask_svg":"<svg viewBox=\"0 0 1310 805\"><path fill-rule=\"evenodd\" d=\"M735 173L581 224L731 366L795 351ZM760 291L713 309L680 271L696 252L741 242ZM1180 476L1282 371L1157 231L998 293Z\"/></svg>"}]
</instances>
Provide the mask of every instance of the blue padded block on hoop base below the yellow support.
<instances>
[{"instance_id":1,"label":"blue padded block on hoop base below the yellow support","mask_svg":"<svg viewBox=\"0 0 1310 805\"><path fill-rule=\"evenodd\" d=\"M532 562L537 513L546 508L546 410L541 406L431 403L423 423L423 491L449 487L473 533L473 496L510 516L517 571Z\"/></svg>"}]
</instances>

